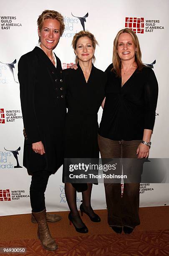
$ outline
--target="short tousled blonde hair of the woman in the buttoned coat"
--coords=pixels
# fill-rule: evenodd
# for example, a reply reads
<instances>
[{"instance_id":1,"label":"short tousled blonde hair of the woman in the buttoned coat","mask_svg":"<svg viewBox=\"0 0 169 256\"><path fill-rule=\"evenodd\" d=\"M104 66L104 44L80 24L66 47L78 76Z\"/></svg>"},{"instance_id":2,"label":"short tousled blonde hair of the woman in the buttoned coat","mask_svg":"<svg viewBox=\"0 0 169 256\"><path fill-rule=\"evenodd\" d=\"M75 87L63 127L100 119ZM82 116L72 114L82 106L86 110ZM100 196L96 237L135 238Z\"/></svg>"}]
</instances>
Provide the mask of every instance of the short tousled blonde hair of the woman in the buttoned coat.
<instances>
[{"instance_id":1,"label":"short tousled blonde hair of the woman in the buttoned coat","mask_svg":"<svg viewBox=\"0 0 169 256\"><path fill-rule=\"evenodd\" d=\"M54 10L44 10L42 14L39 15L38 20L37 20L37 25L38 25L38 30L41 31L43 27L43 22L44 20L47 19L54 19L58 20L61 24L60 28L60 36L63 35L63 31L65 29L65 24L64 24L64 18L61 15L61 13L58 13L57 11ZM39 36L39 43L40 43L40 36Z\"/></svg>"}]
</instances>

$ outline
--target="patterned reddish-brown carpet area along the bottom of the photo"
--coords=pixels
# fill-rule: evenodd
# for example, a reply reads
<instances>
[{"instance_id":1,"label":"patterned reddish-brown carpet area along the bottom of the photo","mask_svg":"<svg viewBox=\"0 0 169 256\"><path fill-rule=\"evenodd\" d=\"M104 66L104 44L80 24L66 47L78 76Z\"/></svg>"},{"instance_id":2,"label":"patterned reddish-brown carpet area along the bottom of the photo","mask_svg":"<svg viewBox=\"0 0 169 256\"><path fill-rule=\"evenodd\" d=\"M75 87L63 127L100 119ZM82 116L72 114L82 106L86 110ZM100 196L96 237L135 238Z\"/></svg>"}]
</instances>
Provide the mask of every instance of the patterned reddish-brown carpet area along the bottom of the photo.
<instances>
[{"instance_id":1,"label":"patterned reddish-brown carpet area along the bottom of the photo","mask_svg":"<svg viewBox=\"0 0 169 256\"><path fill-rule=\"evenodd\" d=\"M27 253L15 256L166 256L169 255L169 229L135 231L130 235L116 233L55 238L58 250L46 251L38 239L0 242L0 247L26 247ZM0 254L11 256L12 254Z\"/></svg>"}]
</instances>

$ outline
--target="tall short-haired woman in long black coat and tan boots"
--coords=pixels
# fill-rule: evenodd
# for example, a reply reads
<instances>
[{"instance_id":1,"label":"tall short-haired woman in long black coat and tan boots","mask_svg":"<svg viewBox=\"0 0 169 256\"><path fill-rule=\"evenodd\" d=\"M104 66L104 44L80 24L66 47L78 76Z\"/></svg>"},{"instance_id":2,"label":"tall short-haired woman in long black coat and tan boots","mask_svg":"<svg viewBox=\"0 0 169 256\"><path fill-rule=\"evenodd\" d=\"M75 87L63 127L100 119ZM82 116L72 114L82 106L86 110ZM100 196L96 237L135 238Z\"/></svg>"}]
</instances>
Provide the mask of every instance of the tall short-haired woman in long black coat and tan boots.
<instances>
[{"instance_id":1,"label":"tall short-haired woman in long black coat and tan boots","mask_svg":"<svg viewBox=\"0 0 169 256\"><path fill-rule=\"evenodd\" d=\"M53 53L64 31L63 16L45 10L38 18L40 45L23 55L18 63L20 100L24 123L23 165L32 175L30 202L33 222L38 222L38 237L47 250L57 245L50 236L44 192L50 174L63 164L63 129L66 114L65 84L61 61Z\"/></svg>"}]
</instances>

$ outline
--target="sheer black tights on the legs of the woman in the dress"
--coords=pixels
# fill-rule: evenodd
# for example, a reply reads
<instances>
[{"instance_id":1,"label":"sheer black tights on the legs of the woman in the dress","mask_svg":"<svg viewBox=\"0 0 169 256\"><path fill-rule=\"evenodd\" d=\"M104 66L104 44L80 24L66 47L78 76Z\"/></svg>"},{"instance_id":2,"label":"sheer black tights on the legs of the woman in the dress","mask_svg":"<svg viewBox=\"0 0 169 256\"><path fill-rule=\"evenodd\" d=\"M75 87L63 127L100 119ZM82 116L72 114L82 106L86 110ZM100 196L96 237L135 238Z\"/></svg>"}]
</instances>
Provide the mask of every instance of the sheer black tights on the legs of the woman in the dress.
<instances>
[{"instance_id":1,"label":"sheer black tights on the legs of the woman in the dress","mask_svg":"<svg viewBox=\"0 0 169 256\"><path fill-rule=\"evenodd\" d=\"M83 208L91 217L95 217L95 213L91 207L91 190L93 184L88 183L88 189L82 192ZM82 228L84 223L82 222L80 215L78 213L78 208L76 205L76 189L71 183L65 184L65 195L68 202L68 206L71 210L71 217L73 218L73 223L77 228Z\"/></svg>"}]
</instances>

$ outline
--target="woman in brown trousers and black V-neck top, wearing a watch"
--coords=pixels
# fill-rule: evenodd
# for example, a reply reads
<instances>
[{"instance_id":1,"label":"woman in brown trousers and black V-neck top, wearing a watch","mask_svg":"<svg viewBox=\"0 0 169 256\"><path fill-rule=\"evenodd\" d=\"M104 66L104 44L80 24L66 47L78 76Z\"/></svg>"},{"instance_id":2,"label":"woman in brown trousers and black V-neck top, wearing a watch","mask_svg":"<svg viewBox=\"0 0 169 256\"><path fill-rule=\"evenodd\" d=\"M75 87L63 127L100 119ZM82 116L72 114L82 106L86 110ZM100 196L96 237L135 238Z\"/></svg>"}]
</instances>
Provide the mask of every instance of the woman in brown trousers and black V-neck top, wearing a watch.
<instances>
[{"instance_id":1,"label":"woman in brown trousers and black V-neck top, wearing a watch","mask_svg":"<svg viewBox=\"0 0 169 256\"><path fill-rule=\"evenodd\" d=\"M158 83L153 70L142 63L139 40L129 28L117 33L113 64L106 73L106 100L98 132L101 157L147 158L155 121ZM124 171L131 171L131 166L123 166ZM133 171L134 175L138 172L137 169ZM124 230L129 234L140 224L139 187L137 181L124 183L121 197L120 183L105 183L108 224L116 233Z\"/></svg>"}]
</instances>

